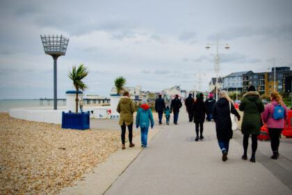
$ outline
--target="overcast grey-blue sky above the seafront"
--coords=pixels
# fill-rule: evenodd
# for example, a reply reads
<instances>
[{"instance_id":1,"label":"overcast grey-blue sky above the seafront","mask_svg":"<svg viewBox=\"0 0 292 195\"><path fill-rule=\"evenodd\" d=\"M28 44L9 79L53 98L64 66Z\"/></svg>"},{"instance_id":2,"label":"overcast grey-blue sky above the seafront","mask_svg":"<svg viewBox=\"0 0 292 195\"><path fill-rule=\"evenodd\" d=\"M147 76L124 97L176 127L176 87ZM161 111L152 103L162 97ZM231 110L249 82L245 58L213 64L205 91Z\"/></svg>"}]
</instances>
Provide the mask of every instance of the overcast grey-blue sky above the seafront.
<instances>
[{"instance_id":1,"label":"overcast grey-blue sky above the seafront","mask_svg":"<svg viewBox=\"0 0 292 195\"><path fill-rule=\"evenodd\" d=\"M127 86L161 91L180 85L207 90L216 77L292 67L292 1L40 1L0 0L0 99L53 98L53 59L40 35L70 38L58 59L58 98L73 90L67 72L90 71L86 95L109 96L116 77ZM197 83L194 86L194 83Z\"/></svg>"}]
</instances>

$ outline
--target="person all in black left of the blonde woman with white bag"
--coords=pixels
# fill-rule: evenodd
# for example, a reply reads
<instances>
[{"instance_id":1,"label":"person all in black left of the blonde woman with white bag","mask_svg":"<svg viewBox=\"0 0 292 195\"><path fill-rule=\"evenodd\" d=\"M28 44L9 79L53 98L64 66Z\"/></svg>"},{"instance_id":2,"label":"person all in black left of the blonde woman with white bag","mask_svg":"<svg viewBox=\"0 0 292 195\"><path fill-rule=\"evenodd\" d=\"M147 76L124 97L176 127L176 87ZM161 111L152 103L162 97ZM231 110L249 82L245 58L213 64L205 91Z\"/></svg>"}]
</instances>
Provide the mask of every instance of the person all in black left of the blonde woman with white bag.
<instances>
[{"instance_id":1,"label":"person all in black left of the blonde woman with white bag","mask_svg":"<svg viewBox=\"0 0 292 195\"><path fill-rule=\"evenodd\" d=\"M197 137L195 138L195 141L198 141L199 139L204 139L203 137L203 126L205 121L205 115L207 112L206 104L204 103L204 95L200 93L199 98L197 98L197 101L193 104L192 112L193 112L193 120L195 123L195 132L197 134ZM200 126L200 137L199 137L199 126Z\"/></svg>"}]
</instances>

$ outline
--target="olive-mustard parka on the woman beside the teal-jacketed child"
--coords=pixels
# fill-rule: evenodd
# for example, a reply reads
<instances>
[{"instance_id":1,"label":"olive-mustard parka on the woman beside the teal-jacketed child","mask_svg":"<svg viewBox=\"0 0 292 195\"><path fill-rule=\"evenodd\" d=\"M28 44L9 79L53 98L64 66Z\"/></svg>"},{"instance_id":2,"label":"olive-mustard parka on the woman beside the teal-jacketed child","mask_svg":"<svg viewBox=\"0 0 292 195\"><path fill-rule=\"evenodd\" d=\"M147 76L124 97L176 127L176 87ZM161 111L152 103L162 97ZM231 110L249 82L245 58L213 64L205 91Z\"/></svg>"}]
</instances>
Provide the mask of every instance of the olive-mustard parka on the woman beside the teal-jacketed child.
<instances>
[{"instance_id":1,"label":"olive-mustard parka on the woman beside the teal-jacketed child","mask_svg":"<svg viewBox=\"0 0 292 195\"><path fill-rule=\"evenodd\" d=\"M133 123L133 113L135 107L133 101L127 96L122 96L117 104L117 112L120 113L119 125L131 125Z\"/></svg>"}]
</instances>

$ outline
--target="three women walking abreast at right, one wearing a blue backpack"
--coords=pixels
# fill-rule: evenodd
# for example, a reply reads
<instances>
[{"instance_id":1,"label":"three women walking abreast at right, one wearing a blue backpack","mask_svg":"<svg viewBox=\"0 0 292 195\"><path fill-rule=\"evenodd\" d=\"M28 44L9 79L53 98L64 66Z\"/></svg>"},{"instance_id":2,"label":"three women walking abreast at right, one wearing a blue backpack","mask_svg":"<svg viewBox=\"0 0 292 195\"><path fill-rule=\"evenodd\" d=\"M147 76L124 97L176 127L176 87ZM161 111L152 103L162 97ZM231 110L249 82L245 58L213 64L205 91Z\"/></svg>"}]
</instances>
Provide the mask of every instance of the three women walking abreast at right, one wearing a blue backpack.
<instances>
[{"instance_id":1,"label":"three women walking abreast at right, one wearing a blue backpack","mask_svg":"<svg viewBox=\"0 0 292 195\"><path fill-rule=\"evenodd\" d=\"M282 98L277 92L270 95L271 102L264 107L260 95L255 91L254 86L248 88L248 93L243 95L243 100L239 106L239 110L243 111L243 123L241 132L243 134L243 155L242 159L248 159L248 139L252 138L252 155L250 162L256 162L255 155L257 152L257 137L261 132L263 122L268 127L270 135L270 145L273 150L272 159L277 159L279 156L279 134L284 129L284 120L287 118L287 110ZM281 107L279 112L281 117L276 118L276 106ZM213 108L213 120L216 123L216 134L220 149L222 151L222 161L226 161L229 149L229 141L232 139L232 121L229 114L234 114L238 120L241 120L238 111L234 108L231 98L226 91L219 93L219 100Z\"/></svg>"}]
</instances>

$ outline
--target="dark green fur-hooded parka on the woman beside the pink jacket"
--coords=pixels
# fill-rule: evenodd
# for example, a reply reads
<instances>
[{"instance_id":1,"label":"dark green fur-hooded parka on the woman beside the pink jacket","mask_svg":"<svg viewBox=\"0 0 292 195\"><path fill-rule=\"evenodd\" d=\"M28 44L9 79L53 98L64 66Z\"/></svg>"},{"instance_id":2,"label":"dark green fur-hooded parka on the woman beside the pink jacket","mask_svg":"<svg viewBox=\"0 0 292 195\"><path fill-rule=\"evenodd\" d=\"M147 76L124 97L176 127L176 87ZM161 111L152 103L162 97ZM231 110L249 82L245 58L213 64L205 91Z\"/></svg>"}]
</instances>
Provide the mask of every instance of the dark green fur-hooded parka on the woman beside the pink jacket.
<instances>
[{"instance_id":1,"label":"dark green fur-hooded parka on the woman beside the pink jacket","mask_svg":"<svg viewBox=\"0 0 292 195\"><path fill-rule=\"evenodd\" d=\"M250 91L243 95L243 100L239 106L239 110L243 111L243 123L241 125L241 132L243 134L257 134L261 132L261 112L265 107L259 93L257 91Z\"/></svg>"}]
</instances>

